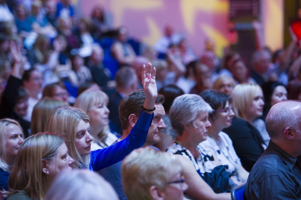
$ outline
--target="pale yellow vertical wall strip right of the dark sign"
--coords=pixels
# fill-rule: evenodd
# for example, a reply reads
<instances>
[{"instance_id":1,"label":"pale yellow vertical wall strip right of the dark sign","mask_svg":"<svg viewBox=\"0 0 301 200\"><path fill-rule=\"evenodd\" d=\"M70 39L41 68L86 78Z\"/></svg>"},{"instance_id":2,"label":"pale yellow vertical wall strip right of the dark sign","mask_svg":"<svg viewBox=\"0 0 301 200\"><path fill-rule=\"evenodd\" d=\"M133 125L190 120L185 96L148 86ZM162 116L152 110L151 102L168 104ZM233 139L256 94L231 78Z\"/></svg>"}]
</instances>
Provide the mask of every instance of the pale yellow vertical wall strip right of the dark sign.
<instances>
[{"instance_id":1,"label":"pale yellow vertical wall strip right of the dark sign","mask_svg":"<svg viewBox=\"0 0 301 200\"><path fill-rule=\"evenodd\" d=\"M283 0L266 0L264 4L265 45L272 51L283 48ZM287 27L284 27L287 28Z\"/></svg>"}]
</instances>

